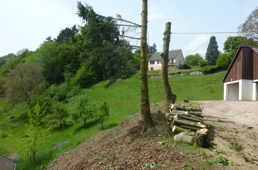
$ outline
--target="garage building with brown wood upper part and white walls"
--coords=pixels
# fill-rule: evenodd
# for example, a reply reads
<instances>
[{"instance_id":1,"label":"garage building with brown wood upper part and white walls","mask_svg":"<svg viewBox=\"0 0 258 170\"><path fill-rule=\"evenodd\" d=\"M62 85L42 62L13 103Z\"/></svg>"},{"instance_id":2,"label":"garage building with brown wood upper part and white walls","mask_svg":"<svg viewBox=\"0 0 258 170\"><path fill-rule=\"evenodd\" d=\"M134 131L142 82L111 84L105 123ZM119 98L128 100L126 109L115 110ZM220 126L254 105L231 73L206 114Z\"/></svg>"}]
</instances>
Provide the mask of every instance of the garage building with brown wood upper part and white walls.
<instances>
[{"instance_id":1,"label":"garage building with brown wood upper part and white walls","mask_svg":"<svg viewBox=\"0 0 258 170\"><path fill-rule=\"evenodd\" d=\"M224 100L257 100L258 47L240 46L222 82Z\"/></svg>"}]
</instances>

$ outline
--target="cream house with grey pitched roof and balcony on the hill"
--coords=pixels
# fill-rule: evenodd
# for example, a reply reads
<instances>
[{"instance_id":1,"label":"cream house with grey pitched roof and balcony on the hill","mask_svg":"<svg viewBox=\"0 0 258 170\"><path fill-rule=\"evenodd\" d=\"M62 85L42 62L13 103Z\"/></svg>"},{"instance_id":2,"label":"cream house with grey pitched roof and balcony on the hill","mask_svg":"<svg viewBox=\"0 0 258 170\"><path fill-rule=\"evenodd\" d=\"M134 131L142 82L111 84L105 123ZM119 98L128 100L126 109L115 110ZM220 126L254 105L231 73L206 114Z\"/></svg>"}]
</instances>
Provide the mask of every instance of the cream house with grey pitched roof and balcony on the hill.
<instances>
[{"instance_id":1,"label":"cream house with grey pitched roof and balcony on the hill","mask_svg":"<svg viewBox=\"0 0 258 170\"><path fill-rule=\"evenodd\" d=\"M161 70L161 52L153 53L149 58L148 70ZM184 56L182 50L168 51L168 70L181 70L184 69Z\"/></svg>"}]
</instances>

